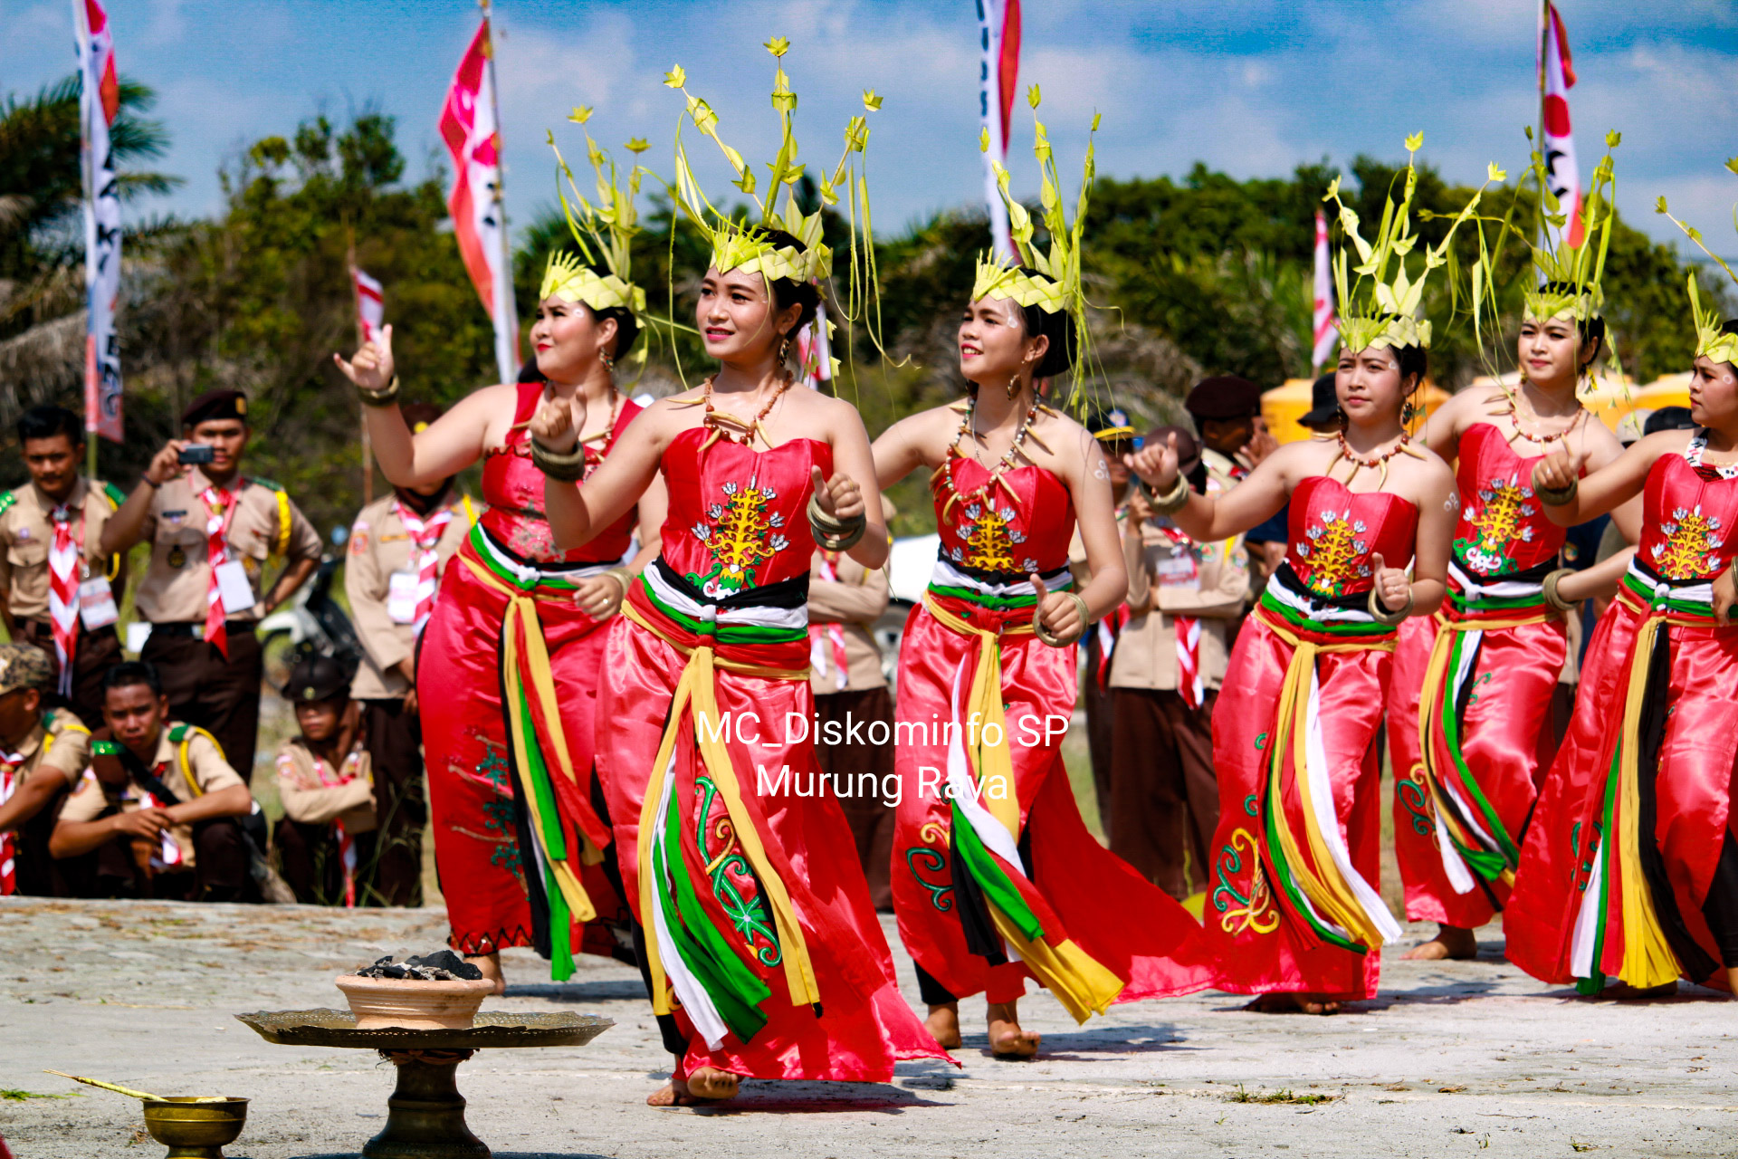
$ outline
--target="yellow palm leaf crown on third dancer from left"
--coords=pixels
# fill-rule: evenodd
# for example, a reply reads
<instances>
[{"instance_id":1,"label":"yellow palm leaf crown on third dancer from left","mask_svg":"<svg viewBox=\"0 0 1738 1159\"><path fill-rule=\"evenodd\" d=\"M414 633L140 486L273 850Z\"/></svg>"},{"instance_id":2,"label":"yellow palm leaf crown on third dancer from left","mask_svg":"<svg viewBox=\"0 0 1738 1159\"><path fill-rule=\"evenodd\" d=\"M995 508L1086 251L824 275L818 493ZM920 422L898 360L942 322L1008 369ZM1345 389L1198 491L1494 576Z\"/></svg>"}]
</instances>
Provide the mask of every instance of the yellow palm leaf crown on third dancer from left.
<instances>
[{"instance_id":1,"label":"yellow palm leaf crown on third dancer from left","mask_svg":"<svg viewBox=\"0 0 1738 1159\"><path fill-rule=\"evenodd\" d=\"M1025 103L1032 109L1032 156L1038 158L1038 172L1043 177L1039 207L1045 229L1050 231L1050 248L1041 250L1032 243L1032 215L1008 193L1008 170L1001 162L991 162L996 170L996 189L1003 205L1008 207L1008 235L1018 261L1003 254L980 254L977 278L972 281L972 299L1003 297L1020 306L1038 306L1045 313L1067 313L1074 318L1079 334L1086 332L1086 292L1081 285L1081 235L1086 229L1086 200L1091 195L1093 141L1086 137L1086 163L1081 170L1079 200L1074 203L1074 224L1069 224L1067 210L1062 205L1062 181L1057 177L1057 158L1050 148L1050 136L1045 122L1038 120L1038 104L1043 94L1038 85L1025 90ZM1098 132L1098 115L1091 118L1091 132ZM989 148L989 132L978 137L978 148ZM1024 266L1024 268L1022 268Z\"/></svg>"}]
</instances>

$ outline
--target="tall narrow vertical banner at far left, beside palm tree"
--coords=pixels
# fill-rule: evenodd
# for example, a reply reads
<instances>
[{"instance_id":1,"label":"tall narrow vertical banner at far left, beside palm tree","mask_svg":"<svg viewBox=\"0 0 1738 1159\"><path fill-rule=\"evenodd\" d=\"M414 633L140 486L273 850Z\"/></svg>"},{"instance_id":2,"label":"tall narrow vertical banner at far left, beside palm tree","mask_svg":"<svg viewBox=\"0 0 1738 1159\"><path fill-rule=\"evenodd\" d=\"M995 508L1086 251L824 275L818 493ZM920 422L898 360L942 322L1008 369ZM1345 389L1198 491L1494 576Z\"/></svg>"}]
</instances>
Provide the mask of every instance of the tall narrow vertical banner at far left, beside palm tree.
<instances>
[{"instance_id":1,"label":"tall narrow vertical banner at far left, beside palm tree","mask_svg":"<svg viewBox=\"0 0 1738 1159\"><path fill-rule=\"evenodd\" d=\"M120 111L120 76L108 12L97 0L73 0L78 40L80 160L85 179L85 429L122 441L120 339L120 191L109 125Z\"/></svg>"}]
</instances>

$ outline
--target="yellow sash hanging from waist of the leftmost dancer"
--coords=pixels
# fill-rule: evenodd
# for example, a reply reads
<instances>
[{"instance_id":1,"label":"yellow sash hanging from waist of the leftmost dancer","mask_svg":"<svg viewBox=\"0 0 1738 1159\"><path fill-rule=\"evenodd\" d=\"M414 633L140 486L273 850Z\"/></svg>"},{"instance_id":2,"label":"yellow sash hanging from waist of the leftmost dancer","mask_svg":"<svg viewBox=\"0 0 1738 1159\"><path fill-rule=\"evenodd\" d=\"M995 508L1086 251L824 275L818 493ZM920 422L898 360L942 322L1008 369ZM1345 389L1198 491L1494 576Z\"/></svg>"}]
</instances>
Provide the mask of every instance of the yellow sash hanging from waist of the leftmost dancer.
<instances>
[{"instance_id":1,"label":"yellow sash hanging from waist of the leftmost dancer","mask_svg":"<svg viewBox=\"0 0 1738 1159\"><path fill-rule=\"evenodd\" d=\"M537 834L539 844L542 844L544 858L549 862L549 871L554 874L556 886L561 890L561 898L567 902L567 909L574 921L584 924L587 921L596 921L598 909L591 904L591 895L586 893L586 886L580 884L579 874L574 872L574 865L568 858L558 858L549 851L544 843L544 817L542 806L537 801L537 787L530 778L530 765L525 759L527 742L525 721L520 716L516 704L523 693L520 683L520 648L523 641L523 652L527 666L532 672L530 692L537 697L539 705L542 705L542 718L546 721L561 719L561 705L554 692L554 674L549 671L549 646L544 643L542 619L537 615L537 599L502 580L499 575L490 572L487 566L478 563L468 554L461 554L471 573L481 580L485 587L507 598L507 612L501 624L501 667L506 674L506 700L502 709L507 718L507 728L513 732L513 775L520 782L520 792L525 798L525 806L532 813L532 832ZM561 777L568 782L579 785L579 777L574 773L574 758L567 751L567 737L561 728L549 730L549 749L554 751L554 768L560 770ZM551 765L551 761L544 761ZM603 860L603 851L591 844L584 834L580 834L580 858L584 864L598 864Z\"/></svg>"}]
</instances>

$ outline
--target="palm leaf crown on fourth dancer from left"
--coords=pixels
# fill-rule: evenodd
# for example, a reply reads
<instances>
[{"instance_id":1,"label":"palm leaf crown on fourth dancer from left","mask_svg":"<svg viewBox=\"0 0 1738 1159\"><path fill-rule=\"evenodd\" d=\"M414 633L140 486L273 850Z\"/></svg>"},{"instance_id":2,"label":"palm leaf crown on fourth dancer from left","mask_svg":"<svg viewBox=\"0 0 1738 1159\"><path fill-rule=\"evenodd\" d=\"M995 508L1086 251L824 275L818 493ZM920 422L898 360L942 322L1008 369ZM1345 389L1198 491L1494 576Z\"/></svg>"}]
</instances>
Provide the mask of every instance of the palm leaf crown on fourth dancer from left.
<instances>
[{"instance_id":1,"label":"palm leaf crown on fourth dancer from left","mask_svg":"<svg viewBox=\"0 0 1738 1159\"><path fill-rule=\"evenodd\" d=\"M1357 250L1359 264L1349 266L1347 247L1342 245L1333 255L1333 281L1340 302L1340 344L1347 351L1370 348L1430 348L1430 321L1418 318L1423 304L1423 287L1430 271L1448 262L1448 247L1455 238L1455 229L1472 217L1484 196L1484 186L1472 195L1462 209L1443 242L1423 250L1423 271L1413 281L1406 273L1406 255L1418 245L1418 235L1411 229L1411 202L1418 191L1418 169L1413 155L1423 146L1423 134L1406 137L1406 186L1399 203L1389 200L1382 209L1382 224L1376 228L1375 242L1366 242L1357 231L1357 214L1340 200L1340 179L1328 186L1323 202L1333 202L1340 210L1340 224L1345 236ZM1502 181L1503 172L1491 165L1486 170L1486 182ZM1349 273L1357 280L1350 281Z\"/></svg>"}]
</instances>

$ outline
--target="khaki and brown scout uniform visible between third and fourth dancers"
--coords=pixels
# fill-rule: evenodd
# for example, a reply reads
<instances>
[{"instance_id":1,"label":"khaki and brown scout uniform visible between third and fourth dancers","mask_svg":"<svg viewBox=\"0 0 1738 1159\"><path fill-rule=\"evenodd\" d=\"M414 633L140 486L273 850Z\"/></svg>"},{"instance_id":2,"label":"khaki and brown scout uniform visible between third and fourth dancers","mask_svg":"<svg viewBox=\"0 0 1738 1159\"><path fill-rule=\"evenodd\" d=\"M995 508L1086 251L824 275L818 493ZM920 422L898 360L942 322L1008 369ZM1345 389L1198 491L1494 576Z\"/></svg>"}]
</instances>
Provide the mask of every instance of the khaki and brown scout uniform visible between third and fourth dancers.
<instances>
[{"instance_id":1,"label":"khaki and brown scout uniform visible between third and fourth dancers","mask_svg":"<svg viewBox=\"0 0 1738 1159\"><path fill-rule=\"evenodd\" d=\"M1208 493L1236 481L1224 455L1203 455ZM1170 520L1123 528L1130 619L1111 660L1112 777L1111 850L1171 897L1206 881L1208 841L1218 825L1213 773L1213 702L1236 624L1250 598L1243 537L1197 544L1166 533ZM1199 707L1178 692L1177 617L1201 627Z\"/></svg>"}]
</instances>

